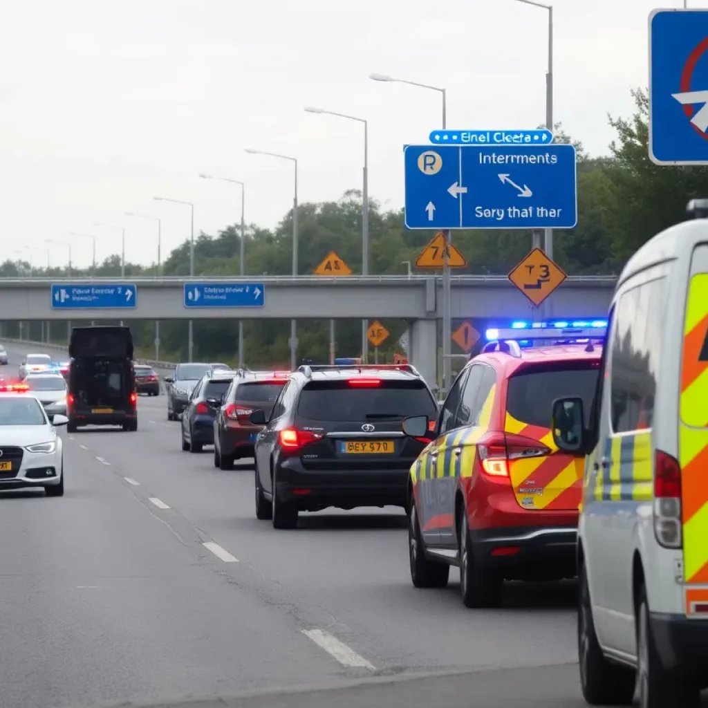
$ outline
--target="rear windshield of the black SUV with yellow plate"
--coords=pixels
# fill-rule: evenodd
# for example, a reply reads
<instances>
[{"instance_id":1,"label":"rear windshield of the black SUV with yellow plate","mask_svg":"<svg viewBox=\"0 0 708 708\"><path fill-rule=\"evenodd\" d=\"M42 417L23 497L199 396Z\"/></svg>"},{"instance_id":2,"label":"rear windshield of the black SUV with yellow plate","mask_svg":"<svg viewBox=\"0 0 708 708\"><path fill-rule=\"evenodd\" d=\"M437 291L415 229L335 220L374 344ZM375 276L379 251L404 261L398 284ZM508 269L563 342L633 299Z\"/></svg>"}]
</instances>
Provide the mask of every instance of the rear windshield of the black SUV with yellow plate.
<instances>
[{"instance_id":1,"label":"rear windshield of the black SUV with yellow plate","mask_svg":"<svg viewBox=\"0 0 708 708\"><path fill-rule=\"evenodd\" d=\"M297 414L311 421L435 418L438 406L421 381L384 381L375 388L355 388L346 381L313 382L302 389Z\"/></svg>"}]
</instances>

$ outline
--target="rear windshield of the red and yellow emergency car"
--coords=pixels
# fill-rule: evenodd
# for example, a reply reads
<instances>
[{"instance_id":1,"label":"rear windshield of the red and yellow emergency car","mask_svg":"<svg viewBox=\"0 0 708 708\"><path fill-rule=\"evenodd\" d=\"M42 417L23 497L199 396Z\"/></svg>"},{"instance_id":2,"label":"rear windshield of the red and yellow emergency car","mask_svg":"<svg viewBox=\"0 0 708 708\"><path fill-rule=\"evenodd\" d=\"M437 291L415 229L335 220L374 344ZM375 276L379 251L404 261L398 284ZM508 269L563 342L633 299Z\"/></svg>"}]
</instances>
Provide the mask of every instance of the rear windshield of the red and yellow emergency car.
<instances>
[{"instance_id":1,"label":"rear windshield of the red and yellow emergency car","mask_svg":"<svg viewBox=\"0 0 708 708\"><path fill-rule=\"evenodd\" d=\"M550 428L553 401L566 396L580 396L587 426L599 371L599 362L589 366L579 362L562 367L524 369L518 376L509 379L506 410L522 423Z\"/></svg>"}]
</instances>

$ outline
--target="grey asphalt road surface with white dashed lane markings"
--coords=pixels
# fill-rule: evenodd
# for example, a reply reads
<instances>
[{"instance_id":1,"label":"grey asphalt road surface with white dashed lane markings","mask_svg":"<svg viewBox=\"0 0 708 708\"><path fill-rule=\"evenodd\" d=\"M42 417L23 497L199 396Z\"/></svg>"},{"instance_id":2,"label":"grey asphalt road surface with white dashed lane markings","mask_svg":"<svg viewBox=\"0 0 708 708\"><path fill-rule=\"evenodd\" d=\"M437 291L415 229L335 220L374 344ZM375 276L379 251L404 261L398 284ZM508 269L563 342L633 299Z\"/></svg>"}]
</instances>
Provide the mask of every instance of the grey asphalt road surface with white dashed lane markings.
<instances>
[{"instance_id":1,"label":"grey asphalt road surface with white dashed lane markings","mask_svg":"<svg viewBox=\"0 0 708 708\"><path fill-rule=\"evenodd\" d=\"M0 493L0 708L585 705L573 583L466 610L457 571L411 586L401 511L276 531L251 461L216 469L179 431L141 397L137 433L64 430L63 498Z\"/></svg>"}]
</instances>

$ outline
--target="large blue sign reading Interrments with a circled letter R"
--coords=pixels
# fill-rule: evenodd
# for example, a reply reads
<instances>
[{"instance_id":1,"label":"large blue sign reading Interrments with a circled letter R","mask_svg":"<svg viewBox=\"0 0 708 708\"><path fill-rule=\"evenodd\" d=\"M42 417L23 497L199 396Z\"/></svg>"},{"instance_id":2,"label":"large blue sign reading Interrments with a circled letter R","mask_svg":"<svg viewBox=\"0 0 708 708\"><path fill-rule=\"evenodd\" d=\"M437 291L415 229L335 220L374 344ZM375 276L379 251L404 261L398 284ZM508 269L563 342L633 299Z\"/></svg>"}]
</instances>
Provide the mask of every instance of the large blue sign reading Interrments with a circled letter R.
<instances>
[{"instance_id":1,"label":"large blue sign reading Interrments with a circled letter R","mask_svg":"<svg viewBox=\"0 0 708 708\"><path fill-rule=\"evenodd\" d=\"M572 229L578 222L572 145L408 145L406 228Z\"/></svg>"}]
</instances>

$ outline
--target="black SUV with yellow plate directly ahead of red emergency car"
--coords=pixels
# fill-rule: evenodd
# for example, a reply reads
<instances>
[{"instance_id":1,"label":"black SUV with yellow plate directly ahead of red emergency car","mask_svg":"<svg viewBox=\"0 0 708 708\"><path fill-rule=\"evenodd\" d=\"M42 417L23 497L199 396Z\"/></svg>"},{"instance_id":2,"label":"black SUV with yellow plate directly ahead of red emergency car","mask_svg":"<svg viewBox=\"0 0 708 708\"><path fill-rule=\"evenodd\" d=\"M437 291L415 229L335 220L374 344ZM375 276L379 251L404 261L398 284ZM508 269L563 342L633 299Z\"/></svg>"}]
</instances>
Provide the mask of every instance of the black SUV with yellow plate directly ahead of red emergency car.
<instances>
[{"instance_id":1,"label":"black SUV with yellow plate directly ahead of red emergency car","mask_svg":"<svg viewBox=\"0 0 708 708\"><path fill-rule=\"evenodd\" d=\"M406 508L411 464L430 442L402 433L411 411L434 421L438 405L410 365L299 367L270 416L250 416L265 424L255 448L256 517L292 528L300 511Z\"/></svg>"}]
</instances>

